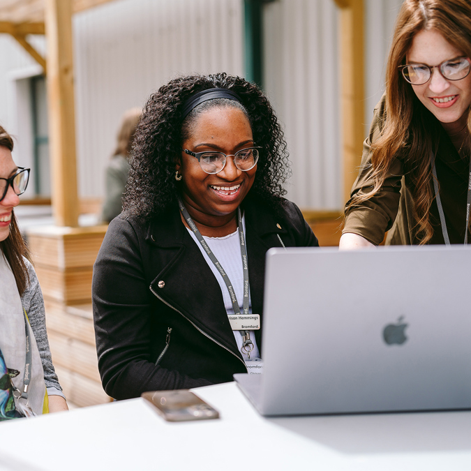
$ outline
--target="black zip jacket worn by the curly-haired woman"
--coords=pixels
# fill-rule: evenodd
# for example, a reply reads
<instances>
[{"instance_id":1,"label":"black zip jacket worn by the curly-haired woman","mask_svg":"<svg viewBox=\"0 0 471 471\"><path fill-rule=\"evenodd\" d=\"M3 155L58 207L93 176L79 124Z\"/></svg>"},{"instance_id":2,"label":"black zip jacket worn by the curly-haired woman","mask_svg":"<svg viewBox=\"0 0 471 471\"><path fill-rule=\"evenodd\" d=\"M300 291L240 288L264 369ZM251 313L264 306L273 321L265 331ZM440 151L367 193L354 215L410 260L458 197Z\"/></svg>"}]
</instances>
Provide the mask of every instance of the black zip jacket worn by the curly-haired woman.
<instances>
[{"instance_id":1,"label":"black zip jacket worn by the curly-haired woman","mask_svg":"<svg viewBox=\"0 0 471 471\"><path fill-rule=\"evenodd\" d=\"M244 214L252 307L263 326L267 250L281 246L278 235L285 246L318 244L291 202L280 217L255 202ZM246 372L218 281L178 207L149 223L124 216L112 220L94 265L92 290L98 368L110 396L199 387ZM260 335L255 337L261 348Z\"/></svg>"}]
</instances>

